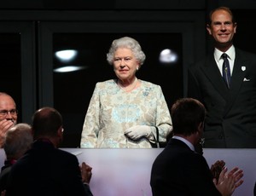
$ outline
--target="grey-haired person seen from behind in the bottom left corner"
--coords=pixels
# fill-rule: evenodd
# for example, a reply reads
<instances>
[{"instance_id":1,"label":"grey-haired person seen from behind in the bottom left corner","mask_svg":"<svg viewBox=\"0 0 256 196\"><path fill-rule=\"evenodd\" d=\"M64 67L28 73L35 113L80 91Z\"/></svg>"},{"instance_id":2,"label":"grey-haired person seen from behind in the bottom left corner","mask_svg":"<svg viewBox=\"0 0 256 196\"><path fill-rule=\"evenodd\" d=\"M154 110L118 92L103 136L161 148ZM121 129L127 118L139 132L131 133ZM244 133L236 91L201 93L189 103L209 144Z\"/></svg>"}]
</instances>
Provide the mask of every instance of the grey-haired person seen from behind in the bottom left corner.
<instances>
[{"instance_id":1,"label":"grey-haired person seen from behind in the bottom left corner","mask_svg":"<svg viewBox=\"0 0 256 196\"><path fill-rule=\"evenodd\" d=\"M32 145L32 130L29 124L15 124L5 135L3 149L6 160L0 174L0 193L6 189L11 166L26 153Z\"/></svg>"}]
</instances>

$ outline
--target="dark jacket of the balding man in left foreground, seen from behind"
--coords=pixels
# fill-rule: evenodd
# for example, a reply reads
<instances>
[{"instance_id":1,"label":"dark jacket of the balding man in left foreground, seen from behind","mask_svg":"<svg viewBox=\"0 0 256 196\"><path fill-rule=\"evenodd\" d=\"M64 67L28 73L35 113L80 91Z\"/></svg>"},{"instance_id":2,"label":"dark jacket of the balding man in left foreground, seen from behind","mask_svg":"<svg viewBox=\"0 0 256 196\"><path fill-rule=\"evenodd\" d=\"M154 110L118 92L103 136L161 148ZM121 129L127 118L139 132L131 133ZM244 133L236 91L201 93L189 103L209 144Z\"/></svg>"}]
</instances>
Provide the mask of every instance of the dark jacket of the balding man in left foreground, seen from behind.
<instances>
[{"instance_id":1,"label":"dark jacket of the balding man in left foreground, seen from behind","mask_svg":"<svg viewBox=\"0 0 256 196\"><path fill-rule=\"evenodd\" d=\"M75 155L55 148L50 142L35 141L32 149L19 159L9 173L6 195L85 196Z\"/></svg>"}]
</instances>

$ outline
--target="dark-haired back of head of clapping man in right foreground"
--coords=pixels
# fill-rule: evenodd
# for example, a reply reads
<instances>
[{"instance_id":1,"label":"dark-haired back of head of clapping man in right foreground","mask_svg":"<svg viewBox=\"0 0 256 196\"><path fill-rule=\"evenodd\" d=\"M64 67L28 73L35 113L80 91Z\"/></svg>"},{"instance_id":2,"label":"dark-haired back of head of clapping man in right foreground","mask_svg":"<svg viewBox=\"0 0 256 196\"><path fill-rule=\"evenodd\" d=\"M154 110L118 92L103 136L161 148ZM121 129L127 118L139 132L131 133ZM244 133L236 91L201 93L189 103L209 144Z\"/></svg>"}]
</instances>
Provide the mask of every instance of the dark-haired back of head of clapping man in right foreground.
<instances>
[{"instance_id":1,"label":"dark-haired back of head of clapping man in right foreground","mask_svg":"<svg viewBox=\"0 0 256 196\"><path fill-rule=\"evenodd\" d=\"M171 109L173 134L191 135L197 131L197 126L204 122L206 109L193 98L177 100Z\"/></svg>"}]
</instances>

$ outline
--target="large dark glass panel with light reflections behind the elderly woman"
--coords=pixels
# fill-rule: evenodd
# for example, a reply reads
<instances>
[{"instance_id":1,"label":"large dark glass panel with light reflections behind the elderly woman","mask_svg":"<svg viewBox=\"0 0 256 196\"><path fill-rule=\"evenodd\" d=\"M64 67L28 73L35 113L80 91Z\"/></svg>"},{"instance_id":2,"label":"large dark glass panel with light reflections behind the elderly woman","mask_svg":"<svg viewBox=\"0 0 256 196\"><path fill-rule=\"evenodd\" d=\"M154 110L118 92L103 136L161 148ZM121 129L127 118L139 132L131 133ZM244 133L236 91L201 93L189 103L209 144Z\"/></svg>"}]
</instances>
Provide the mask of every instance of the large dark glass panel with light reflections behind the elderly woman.
<instances>
[{"instance_id":1,"label":"large dark glass panel with light reflections behind the elderly woman","mask_svg":"<svg viewBox=\"0 0 256 196\"><path fill-rule=\"evenodd\" d=\"M129 36L137 39L146 55L146 61L137 78L160 84L169 107L183 96L183 61L181 33L54 33L54 69L60 66L83 66L75 72L54 72L54 107L64 120L62 147L79 147L84 116L96 82L115 78L113 67L106 55L113 39ZM78 54L72 61L60 61L55 52L75 49ZM160 63L160 52L172 49L177 62ZM174 90L175 89L175 90Z\"/></svg>"}]
</instances>

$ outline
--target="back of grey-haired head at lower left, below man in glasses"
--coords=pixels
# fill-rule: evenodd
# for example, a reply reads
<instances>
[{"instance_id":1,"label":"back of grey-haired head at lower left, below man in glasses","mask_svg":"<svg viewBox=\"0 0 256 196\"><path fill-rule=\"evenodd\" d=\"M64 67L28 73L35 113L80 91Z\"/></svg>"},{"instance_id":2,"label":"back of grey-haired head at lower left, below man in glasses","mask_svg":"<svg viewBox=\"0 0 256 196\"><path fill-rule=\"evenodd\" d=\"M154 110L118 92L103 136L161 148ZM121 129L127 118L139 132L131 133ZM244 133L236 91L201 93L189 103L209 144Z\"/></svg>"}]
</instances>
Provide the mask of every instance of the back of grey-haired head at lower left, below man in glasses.
<instances>
[{"instance_id":1,"label":"back of grey-haired head at lower left, below man in glasses","mask_svg":"<svg viewBox=\"0 0 256 196\"><path fill-rule=\"evenodd\" d=\"M29 124L16 124L6 133L3 148L7 159L20 159L32 146L32 128Z\"/></svg>"}]
</instances>

